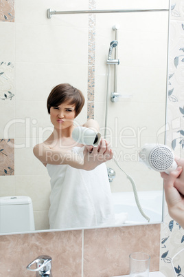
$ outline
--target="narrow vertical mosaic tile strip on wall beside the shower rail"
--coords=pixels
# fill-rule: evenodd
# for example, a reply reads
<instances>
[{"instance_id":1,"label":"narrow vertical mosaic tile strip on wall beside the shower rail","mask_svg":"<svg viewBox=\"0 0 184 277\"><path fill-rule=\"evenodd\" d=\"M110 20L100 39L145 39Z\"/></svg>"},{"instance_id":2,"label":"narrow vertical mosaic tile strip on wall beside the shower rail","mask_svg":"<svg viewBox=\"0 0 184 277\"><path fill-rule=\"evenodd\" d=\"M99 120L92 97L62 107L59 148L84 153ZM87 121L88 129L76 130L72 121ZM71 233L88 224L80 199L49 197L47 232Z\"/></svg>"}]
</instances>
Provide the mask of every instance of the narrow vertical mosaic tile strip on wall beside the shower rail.
<instances>
[{"instance_id":1,"label":"narrow vertical mosaic tile strip on wall beside the shower rail","mask_svg":"<svg viewBox=\"0 0 184 277\"><path fill-rule=\"evenodd\" d=\"M96 1L89 0L89 10L95 10ZM95 94L95 14L89 14L88 39L88 90L87 90L87 118L94 118Z\"/></svg>"}]
</instances>

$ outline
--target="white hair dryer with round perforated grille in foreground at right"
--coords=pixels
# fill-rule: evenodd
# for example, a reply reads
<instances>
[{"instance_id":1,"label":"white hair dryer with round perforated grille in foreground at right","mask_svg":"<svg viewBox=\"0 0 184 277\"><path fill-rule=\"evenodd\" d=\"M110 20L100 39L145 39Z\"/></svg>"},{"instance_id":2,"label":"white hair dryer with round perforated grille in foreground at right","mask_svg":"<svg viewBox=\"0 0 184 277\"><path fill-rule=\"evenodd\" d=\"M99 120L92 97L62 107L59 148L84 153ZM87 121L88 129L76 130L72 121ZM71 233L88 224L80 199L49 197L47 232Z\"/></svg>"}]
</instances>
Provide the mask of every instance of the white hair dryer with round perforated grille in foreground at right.
<instances>
[{"instance_id":1,"label":"white hair dryer with round perforated grille in foreground at right","mask_svg":"<svg viewBox=\"0 0 184 277\"><path fill-rule=\"evenodd\" d=\"M166 145L146 144L139 152L139 157L150 169L170 174L178 167L174 154Z\"/></svg>"}]
</instances>

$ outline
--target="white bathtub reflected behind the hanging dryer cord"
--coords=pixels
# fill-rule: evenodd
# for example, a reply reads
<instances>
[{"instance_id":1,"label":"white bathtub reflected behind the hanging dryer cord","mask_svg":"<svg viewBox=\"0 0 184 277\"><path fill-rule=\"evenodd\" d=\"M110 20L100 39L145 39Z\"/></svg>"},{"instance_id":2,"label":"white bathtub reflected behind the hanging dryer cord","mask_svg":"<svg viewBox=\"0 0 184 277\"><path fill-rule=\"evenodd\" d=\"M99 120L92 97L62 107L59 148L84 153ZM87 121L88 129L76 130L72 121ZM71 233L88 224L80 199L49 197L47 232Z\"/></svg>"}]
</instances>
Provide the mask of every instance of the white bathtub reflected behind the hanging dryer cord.
<instances>
[{"instance_id":1,"label":"white bathtub reflected behind the hanging dryer cord","mask_svg":"<svg viewBox=\"0 0 184 277\"><path fill-rule=\"evenodd\" d=\"M161 223L163 221L163 191L138 192L139 202L143 212L150 218L149 223ZM115 215L124 218L123 224L148 223L135 202L133 192L114 192L113 203ZM118 220L116 225L118 224Z\"/></svg>"}]
</instances>

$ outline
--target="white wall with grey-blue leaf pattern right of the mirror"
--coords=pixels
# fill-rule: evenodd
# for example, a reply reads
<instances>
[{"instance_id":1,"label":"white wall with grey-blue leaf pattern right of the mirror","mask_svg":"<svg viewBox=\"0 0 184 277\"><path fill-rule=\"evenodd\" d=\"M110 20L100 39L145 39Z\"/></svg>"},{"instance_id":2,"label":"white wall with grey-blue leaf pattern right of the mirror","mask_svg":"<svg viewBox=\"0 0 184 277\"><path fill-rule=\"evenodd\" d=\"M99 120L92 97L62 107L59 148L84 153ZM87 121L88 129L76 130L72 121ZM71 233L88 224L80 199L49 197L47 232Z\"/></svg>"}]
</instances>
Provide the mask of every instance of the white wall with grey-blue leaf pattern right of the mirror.
<instances>
[{"instance_id":1,"label":"white wall with grey-blue leaf pattern right of the mirror","mask_svg":"<svg viewBox=\"0 0 184 277\"><path fill-rule=\"evenodd\" d=\"M184 3L172 0L170 15L170 50L168 80L168 131L167 144L176 156L184 158L183 151L183 52L184 52ZM184 276L184 252L174 258L176 275L172 269L171 259L184 243L184 230L168 214L165 205L164 224L161 225L161 263L160 269L165 276Z\"/></svg>"}]
</instances>

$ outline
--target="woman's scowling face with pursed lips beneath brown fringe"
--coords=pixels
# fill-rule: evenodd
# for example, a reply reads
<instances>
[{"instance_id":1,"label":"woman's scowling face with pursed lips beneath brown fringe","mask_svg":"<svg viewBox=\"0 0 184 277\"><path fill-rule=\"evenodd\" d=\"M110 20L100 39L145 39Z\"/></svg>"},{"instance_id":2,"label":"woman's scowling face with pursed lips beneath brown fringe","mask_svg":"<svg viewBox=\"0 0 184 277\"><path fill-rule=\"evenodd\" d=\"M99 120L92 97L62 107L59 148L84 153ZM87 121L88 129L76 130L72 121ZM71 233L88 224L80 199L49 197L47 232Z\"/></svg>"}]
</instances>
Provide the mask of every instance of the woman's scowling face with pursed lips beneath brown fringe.
<instances>
[{"instance_id":1,"label":"woman's scowling face with pursed lips beneath brown fringe","mask_svg":"<svg viewBox=\"0 0 184 277\"><path fill-rule=\"evenodd\" d=\"M66 129L73 126L76 117L75 105L64 102L57 107L50 108L51 123L56 129Z\"/></svg>"}]
</instances>

